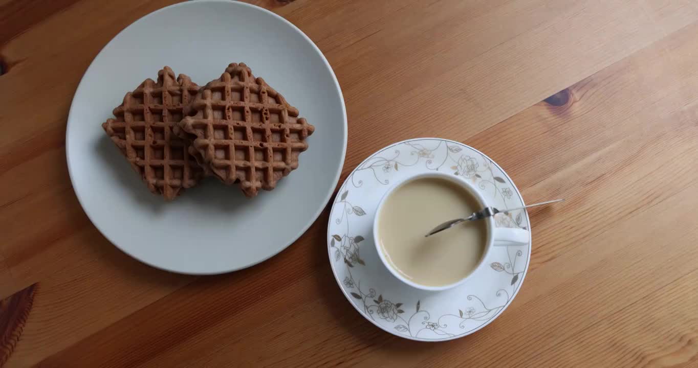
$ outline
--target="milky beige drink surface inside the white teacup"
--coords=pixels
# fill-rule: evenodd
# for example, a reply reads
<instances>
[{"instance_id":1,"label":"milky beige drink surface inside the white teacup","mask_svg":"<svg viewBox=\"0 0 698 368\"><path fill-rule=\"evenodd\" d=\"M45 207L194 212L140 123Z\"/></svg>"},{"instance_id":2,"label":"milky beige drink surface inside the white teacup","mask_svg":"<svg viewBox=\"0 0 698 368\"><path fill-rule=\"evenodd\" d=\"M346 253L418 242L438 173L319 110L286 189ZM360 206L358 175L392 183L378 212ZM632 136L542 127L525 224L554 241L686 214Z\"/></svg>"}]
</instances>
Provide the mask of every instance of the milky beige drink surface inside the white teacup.
<instances>
[{"instance_id":1,"label":"milky beige drink surface inside the white teacup","mask_svg":"<svg viewBox=\"0 0 698 368\"><path fill-rule=\"evenodd\" d=\"M481 205L463 187L440 178L419 178L392 192L378 214L378 244L388 263L425 286L458 282L480 263L487 222L468 221L429 238L430 229L467 217Z\"/></svg>"}]
</instances>

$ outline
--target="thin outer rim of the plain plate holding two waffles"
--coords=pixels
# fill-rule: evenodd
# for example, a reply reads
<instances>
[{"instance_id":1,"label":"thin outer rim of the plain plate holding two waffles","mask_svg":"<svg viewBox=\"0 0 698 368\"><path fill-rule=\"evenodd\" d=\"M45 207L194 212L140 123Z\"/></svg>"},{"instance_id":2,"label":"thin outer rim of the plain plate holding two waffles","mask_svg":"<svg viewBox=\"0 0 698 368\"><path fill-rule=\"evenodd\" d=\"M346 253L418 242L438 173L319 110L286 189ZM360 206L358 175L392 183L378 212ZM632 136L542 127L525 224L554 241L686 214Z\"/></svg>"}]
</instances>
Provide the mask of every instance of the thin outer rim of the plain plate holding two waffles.
<instances>
[{"instance_id":1,"label":"thin outer rim of the plain plate holding two waffles","mask_svg":"<svg viewBox=\"0 0 698 368\"><path fill-rule=\"evenodd\" d=\"M114 40L116 38L121 36L121 34L124 33L125 31L127 31L129 28L131 28L131 26L133 26L133 24L147 20L148 17L154 16L154 15L161 13L165 10L168 10L171 8L177 8L180 6L201 6L202 4L205 4L205 3L226 3L230 6L234 6L234 7L235 6L242 6L242 7L246 7L246 8L251 8L251 9L256 10L256 11L260 11L262 13L266 13L267 15L272 15L272 18L279 20L279 21L283 22L284 24L290 26L291 29L295 30L297 33L299 33L300 36L302 36L302 38L304 38L308 43L310 43L310 45L313 47L313 49L315 49L315 52L317 52L318 56L320 56L320 59L322 60L322 62L325 63L325 66L327 67L327 70L329 71L329 75L332 77L332 82L334 82L334 85L336 86L336 90L339 93L339 100L341 102L342 119L343 119L342 132L343 132L344 139L342 142L341 160L340 160L339 166L337 167L336 172L334 174L334 179L332 179L332 183L334 183L334 185L332 185L330 187L330 190L327 192L327 194L325 194L325 199L323 199L323 201L322 201L322 206L319 206L318 210L316 210L315 213L313 214L313 216L309 218L309 222L306 225L304 225L304 227L299 229L299 232L297 233L297 235L293 236L292 239L289 240L286 245L284 245L283 247L280 247L280 249L278 251L276 251L272 254L269 254L269 256L262 258L262 259L259 259L257 261L253 261L252 263L248 263L244 266L239 266L239 267L235 267L235 268L228 268L225 270L216 270L214 272L193 272L193 271L189 271L189 270L183 271L183 270L177 270L176 268L168 268L168 267L165 267L161 264L156 264L156 263L153 263L153 262L148 261L146 259L142 259L138 256L135 256L135 254L132 254L131 252L126 250L125 247L121 247L120 245L115 243L114 240L112 240L112 238L110 238L110 236L107 236L105 231L103 231L102 227L95 222L94 215L91 215L89 213L89 211L87 210L87 208L84 206L84 200L80 196L80 193L78 192L78 190L76 189L77 187L75 186L75 178L74 178L74 174L73 174L74 169L73 169L72 165L70 164L70 126L71 126L71 122L73 120L75 120L75 117L74 117L75 114L77 114L75 112L77 110L77 107L75 105L75 96L78 95L78 93L80 93L81 90L85 88L84 87L85 76L88 74L88 72L91 70L91 68L94 67L94 61L104 52L105 49L107 49L107 47L109 47L112 44L112 42L114 42ZM148 13L146 15L143 15L142 17L138 18L137 20L131 22L131 24L128 24L128 26L124 27L124 29L121 29L121 31L119 31L119 33L114 35L109 40L109 42L107 42L99 50L99 52L94 56L94 58L90 62L87 69L85 69L85 71L83 72L82 77L80 78L80 83L77 84L77 88L75 89L75 93L73 93L73 98L72 98L72 100L70 100L70 109L68 109L68 118L66 121L66 164L68 166L68 177L70 178L70 185L73 187L73 192L75 193L75 197L77 197L77 202L80 204L82 211L85 213L85 215L87 215L87 218L90 220L91 224L94 225L94 227L97 229L97 231L99 231L99 233L101 233L102 236L104 236L107 240L109 240L109 242L112 243L112 245L114 245L114 247L117 247L117 249L121 250L121 252L126 253L128 256L131 256L131 258L136 259L142 263L145 263L148 266L151 266L153 268L158 268L159 270L165 270L165 271L172 272L172 273L179 273L182 275L221 275L224 273L231 273L231 272L235 272L237 270L242 270L244 268L249 268L249 267L255 266L259 263L262 263L264 261L267 261L268 259L271 259L272 257L276 256L277 254L283 252L283 250L286 250L288 247L290 247L290 245L295 243L296 240L298 240L301 236L303 236L303 234L306 231L308 231L308 229L315 223L315 221L318 220L318 217L320 217L320 214L322 213L322 210L324 210L325 207L327 206L327 203L329 203L330 199L332 199L332 195L334 194L334 190L336 189L337 184L339 183L339 178L341 176L342 169L344 167L344 161L346 160L347 140L348 140L348 119L347 119L347 112L346 112L346 102L344 101L344 95L342 93L341 86L339 85L339 80L337 79L337 77L334 73L334 69L332 69L332 66L329 64L329 61L327 61L325 54L322 54L322 51L320 50L318 45L315 45L313 40L311 40L311 38L309 38L301 29L299 29L297 26L295 26L295 24L286 20L284 17L281 17L281 15L278 15L278 14L276 14L270 10L267 10L265 8L262 8L260 6L252 5L250 3L243 3L241 1L230 1L230 0L184 1L181 3L174 3L170 6L165 6L163 8L159 8L159 9L154 10L151 13Z\"/></svg>"}]
</instances>

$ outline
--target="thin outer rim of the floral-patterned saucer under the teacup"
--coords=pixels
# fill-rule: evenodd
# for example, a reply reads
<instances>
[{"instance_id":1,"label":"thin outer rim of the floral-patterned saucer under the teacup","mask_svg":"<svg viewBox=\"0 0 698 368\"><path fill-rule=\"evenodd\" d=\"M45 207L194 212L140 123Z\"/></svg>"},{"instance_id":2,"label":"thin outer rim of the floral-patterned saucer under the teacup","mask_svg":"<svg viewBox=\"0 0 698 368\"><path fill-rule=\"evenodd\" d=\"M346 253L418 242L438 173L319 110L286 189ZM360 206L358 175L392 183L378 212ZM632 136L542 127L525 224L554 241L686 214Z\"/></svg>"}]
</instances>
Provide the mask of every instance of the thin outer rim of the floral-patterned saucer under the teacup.
<instances>
[{"instance_id":1,"label":"thin outer rim of the floral-patterned saucer under the teacup","mask_svg":"<svg viewBox=\"0 0 698 368\"><path fill-rule=\"evenodd\" d=\"M356 171L356 169L357 169L358 167L361 167L361 165L364 164L364 162L367 162L368 160L370 160L371 158L373 158L373 156L375 156L376 154L378 154L378 153L380 153L380 152L382 152L382 151L385 151L385 150L388 149L388 148L397 146L397 145L399 145L399 144L404 144L404 143L410 142L410 141L421 141L421 140L424 140L424 139L435 139L435 140L439 140L439 141L447 141L447 142L451 142L451 143L454 143L454 144L459 144L459 145L466 146L466 147L472 149L473 151L475 151L475 152L477 152L477 153L480 153L480 155L482 155L484 158L487 158L487 160L489 160L489 161L490 161L491 163L493 163L496 167L498 167L498 168L502 171L502 174L503 174L504 176L506 176L507 179L509 179L510 183L512 184L512 187L514 187L514 190L516 190L517 194L519 195L519 198L521 198L521 203L523 204L523 206L526 206L525 202L523 201L523 195L521 195L521 191L519 191L519 187L517 187L517 185L514 183L514 181L512 180L512 178L509 176L509 174L507 174L507 172L504 171L504 169L503 169L502 167L500 167L499 164L498 164L496 161L492 160L492 158L490 158L488 155L485 155L484 153L482 153L482 151L478 150L477 148L475 148L475 147L473 147L473 146L469 146L468 144L465 144L465 143L463 143L463 142L461 142L461 141L454 141L454 140L452 140L452 139L438 138L438 137L418 137L418 138L410 138L410 139L405 139L405 140L403 140L403 141L396 141L396 142L394 142L394 143L388 144L387 146L384 146L384 147L382 147L382 148L379 148L377 151L374 151L373 153L371 153L370 155L368 155L362 162L360 162L359 164L357 164L356 167L355 167L354 169L352 169L352 171L348 174L346 180L339 186L339 188L341 189L341 187L343 187L343 186L347 183L347 181L349 180L350 176L351 176L352 174L354 174L354 171ZM333 203L332 206L330 207L330 212L332 212L332 208L334 208L334 203ZM529 229L528 229L528 257L527 257L527 259L526 259L526 267L523 268L523 273L522 273L522 276L521 276L521 282L519 283L519 289L514 290L514 293L512 294L512 297L507 301L507 303L506 303L505 305L503 305L502 309L500 309L500 311L499 311L497 314L495 314L491 319L489 319L489 320L488 320L487 322L485 322L485 323L482 323L482 325L480 325L479 327L477 327L477 328L471 330L470 332L464 333L463 335L456 335L456 336L454 336L454 337L445 337L445 338L443 338L443 339L421 339L421 338L419 338L419 337L414 337L414 336L398 335L398 334L396 334L395 332L393 332L392 330L389 330L388 328L385 328L383 325L378 324L376 321L373 321L372 319L370 319L370 318L368 318L366 315L364 315L364 312L362 312L362 310L359 309L359 307L358 307L357 305L355 305L355 304L352 302L352 298L350 298L350 296L348 295L347 291L342 287L341 281L340 281L339 277L337 277L336 270L334 269L334 263L332 262L332 252L331 252L332 249L331 249L331 247L329 246L329 238L332 237L332 236L330 235L330 231L329 231L329 229L330 229L330 224L331 224L331 222L332 222L332 218L329 218L329 219L327 220L327 236L326 236L326 238L325 238L325 241L327 241L327 259L328 259L328 261L329 261L329 266L330 266L330 268L332 268L332 275L334 276L334 280L337 282L337 286L339 286L339 290L341 290L341 292L342 292L342 294L344 295L344 297L346 298L347 302L349 302L349 304L350 304L352 307L354 307L354 309L356 309L356 311L359 313L359 315L362 316L363 319L366 319L366 321L369 321L369 322L373 323L373 325L376 325L376 327L380 328L381 330L384 330L385 332L388 332L390 335L394 335L394 336L397 336L397 337L402 337L403 339L410 339L410 340L414 340L414 341L418 341L418 342L445 342L445 341L450 341L450 340L454 340L454 339L459 339L459 338L461 338L461 337L466 337L466 336L468 336L468 335L473 335L473 333L475 333L475 332L477 332L477 331L479 331L479 330L482 330L482 328L484 328L485 326L489 325L489 324L492 323L494 320L496 320L496 319L497 319L499 316L501 316L501 315L504 313L504 311L512 304L512 302L514 301L514 298L516 298L517 295L519 294L519 291L521 291L521 288L523 287L523 282L526 280L526 274L528 274L528 267L530 266L530 256L531 256L531 254L533 254L533 229L530 229L530 217L528 216L528 210L525 210L525 209L524 209L524 210L523 210L523 213L526 214L526 221L527 221L528 224L529 224Z\"/></svg>"}]
</instances>

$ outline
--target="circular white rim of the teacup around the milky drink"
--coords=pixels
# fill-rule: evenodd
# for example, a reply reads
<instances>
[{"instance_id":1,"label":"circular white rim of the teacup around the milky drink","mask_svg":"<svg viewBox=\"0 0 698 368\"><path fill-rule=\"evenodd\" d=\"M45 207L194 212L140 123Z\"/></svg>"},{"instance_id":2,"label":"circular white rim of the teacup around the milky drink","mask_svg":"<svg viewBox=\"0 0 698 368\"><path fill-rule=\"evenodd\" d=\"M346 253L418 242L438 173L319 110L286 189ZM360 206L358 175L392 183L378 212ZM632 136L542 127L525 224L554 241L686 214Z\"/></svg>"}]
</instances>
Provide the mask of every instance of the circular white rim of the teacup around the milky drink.
<instances>
[{"instance_id":1,"label":"circular white rim of the teacup around the milky drink","mask_svg":"<svg viewBox=\"0 0 698 368\"><path fill-rule=\"evenodd\" d=\"M487 243L485 243L484 247L484 252L482 253L482 256L480 257L480 261L477 262L477 265L473 267L472 270L470 270L470 273L468 273L466 276L464 276L462 279L459 279L456 282L453 282L451 284L446 284L446 285L441 285L441 286L429 286L429 285L424 285L424 284L418 284L417 282L413 282L410 279L407 279L403 275L401 275L397 270L395 270L385 259L385 254L383 254L383 250L381 249L381 245L379 244L379 237L378 237L378 218L380 217L380 213L383 210L383 204L385 204L385 200L399 187L402 187L403 185L406 185L407 183L410 183L412 181L416 181L422 178L441 178L445 179L447 181L451 181L452 183L456 183L463 187L465 190L468 190L470 194L475 197L475 199L479 202L483 208L487 206L487 201L484 199L482 194L477 190L477 188L468 183L465 179L452 175L452 174L445 174L440 171L433 171L433 172L427 172L427 173L419 173L419 174L414 174L411 176L408 176L407 178L403 178L401 181L398 183L395 183L389 190L383 194L383 197L380 199L378 202L378 207L376 208L376 215L373 216L373 243L376 246L376 252L378 252L378 257L380 258L380 261L383 262L383 266L389 270L392 275L394 275L397 279L399 279L401 282L408 284L409 286L412 286L415 289L421 289L421 290L426 290L426 291L443 291L443 290L448 290L448 289L453 289L456 286L460 286L461 284L464 284L466 280L468 280L476 270L482 267L484 264L485 259L489 256L489 253L491 252L491 249L494 244L494 231L495 231L495 224L493 217L486 217L483 220L487 222ZM464 214L466 215L466 214Z\"/></svg>"}]
</instances>

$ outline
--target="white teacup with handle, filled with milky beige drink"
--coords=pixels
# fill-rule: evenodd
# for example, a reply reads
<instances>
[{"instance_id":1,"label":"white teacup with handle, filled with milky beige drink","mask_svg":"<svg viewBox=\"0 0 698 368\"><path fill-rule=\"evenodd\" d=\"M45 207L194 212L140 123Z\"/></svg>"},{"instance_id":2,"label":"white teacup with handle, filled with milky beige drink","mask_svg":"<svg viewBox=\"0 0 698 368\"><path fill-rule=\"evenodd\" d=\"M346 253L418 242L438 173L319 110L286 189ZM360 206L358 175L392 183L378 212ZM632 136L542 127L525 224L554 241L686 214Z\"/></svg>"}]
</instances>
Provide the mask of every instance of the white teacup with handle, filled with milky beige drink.
<instances>
[{"instance_id":1,"label":"white teacup with handle, filled with milky beige drink","mask_svg":"<svg viewBox=\"0 0 698 368\"><path fill-rule=\"evenodd\" d=\"M378 204L373 239L380 260L402 282L442 291L465 283L487 267L493 247L525 245L528 231L496 227L493 217L463 222L426 238L436 225L491 206L461 176L438 171L416 174L393 185ZM462 244L461 244L462 243Z\"/></svg>"}]
</instances>

